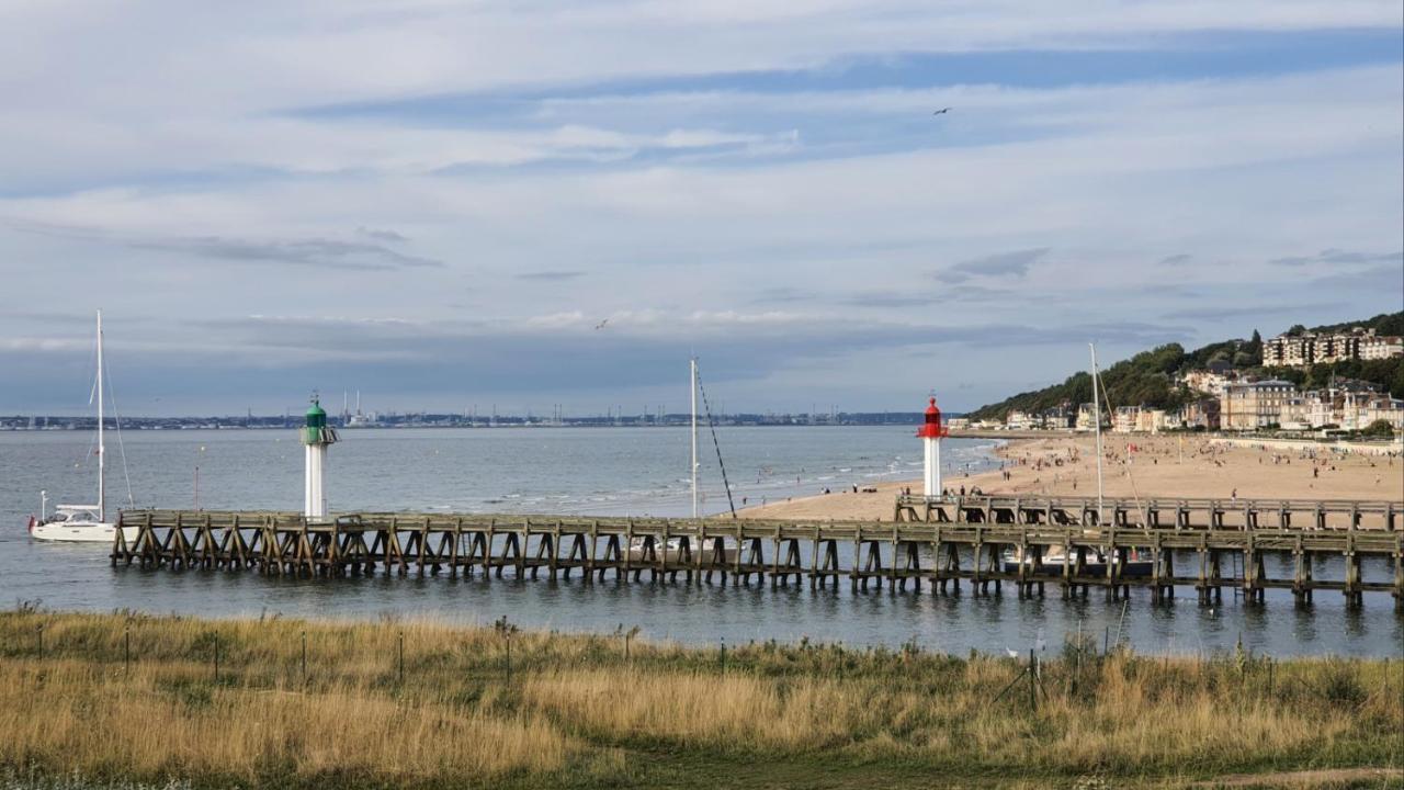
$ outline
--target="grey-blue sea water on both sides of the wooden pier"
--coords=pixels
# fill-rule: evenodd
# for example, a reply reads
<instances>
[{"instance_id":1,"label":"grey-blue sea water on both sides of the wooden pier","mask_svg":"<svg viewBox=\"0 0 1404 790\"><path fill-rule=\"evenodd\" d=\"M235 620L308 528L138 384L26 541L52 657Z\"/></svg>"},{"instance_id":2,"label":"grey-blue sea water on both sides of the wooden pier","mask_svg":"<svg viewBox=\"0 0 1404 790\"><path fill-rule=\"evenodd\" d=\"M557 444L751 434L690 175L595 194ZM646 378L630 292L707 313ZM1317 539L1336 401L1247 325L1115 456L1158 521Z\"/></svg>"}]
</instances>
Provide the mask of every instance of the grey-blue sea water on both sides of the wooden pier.
<instances>
[{"instance_id":1,"label":"grey-blue sea water on both sides of the wooden pier","mask_svg":"<svg viewBox=\"0 0 1404 790\"><path fill-rule=\"evenodd\" d=\"M835 492L849 485L920 477L920 444L907 427L717 429L737 506ZM705 509L726 510L710 437L703 432ZM188 507L199 467L201 506L288 509L302 505L302 447L295 432L131 432L124 437L139 506ZM1360 611L1320 593L1306 610L1271 590L1266 607L1244 607L1231 592L1217 609L1191 593L1171 604L1133 592L1120 603L1094 590L1085 602L970 595L823 595L768 586L594 585L448 578L271 579L256 574L114 571L105 547L31 541L24 520L39 489L58 502L93 500L91 437L76 432L0 433L0 604L42 600L52 609L121 607L205 616L376 617L382 613L487 623L503 614L528 627L612 631L691 644L748 640L842 641L1000 652L1046 644L1057 649L1080 627L1122 630L1143 652L1199 652L1244 644L1272 655L1400 655L1404 619L1387 595ZM990 443L951 440L943 458L960 468L990 464ZM125 503L110 434L110 502ZM685 514L691 505L685 429L351 430L330 451L330 506L340 509L511 513ZM1379 575L1380 566L1367 572ZM1330 572L1330 569L1325 569ZM1273 568L1273 572L1280 569ZM1184 592L1181 593L1184 596Z\"/></svg>"}]
</instances>

